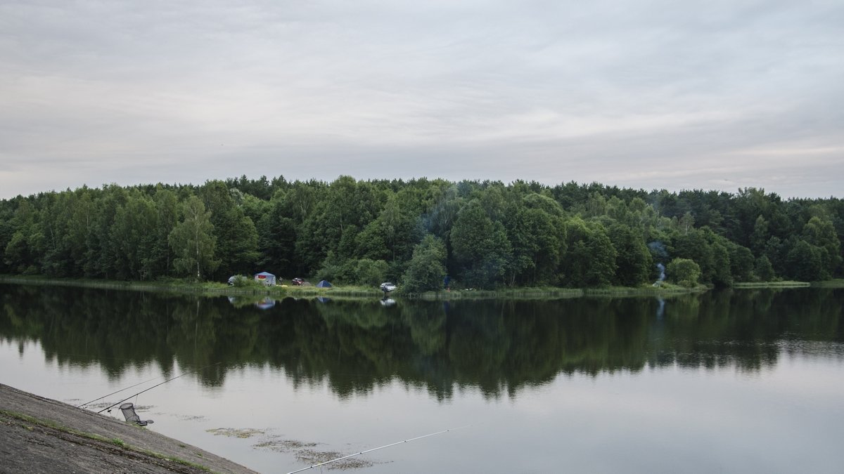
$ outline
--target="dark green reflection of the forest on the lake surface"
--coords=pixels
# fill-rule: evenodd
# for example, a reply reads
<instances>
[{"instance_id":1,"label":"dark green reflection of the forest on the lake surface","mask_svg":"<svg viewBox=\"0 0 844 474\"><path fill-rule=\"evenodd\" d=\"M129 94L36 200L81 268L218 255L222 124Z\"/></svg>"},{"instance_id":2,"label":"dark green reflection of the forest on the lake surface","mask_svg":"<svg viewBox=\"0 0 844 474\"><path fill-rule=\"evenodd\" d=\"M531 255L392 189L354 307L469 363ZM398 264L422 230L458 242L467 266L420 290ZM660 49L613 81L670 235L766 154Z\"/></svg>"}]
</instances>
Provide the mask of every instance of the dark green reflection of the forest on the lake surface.
<instances>
[{"instance_id":1,"label":"dark green reflection of the forest on the lake surface","mask_svg":"<svg viewBox=\"0 0 844 474\"><path fill-rule=\"evenodd\" d=\"M841 290L743 290L665 299L316 303L268 310L78 288L3 286L0 337L37 340L59 364L110 376L157 364L221 385L229 369L269 365L296 386L338 396L401 380L447 399L455 387L515 396L559 374L678 365L756 371L782 341L842 341ZM801 344L788 351L810 350Z\"/></svg>"}]
</instances>

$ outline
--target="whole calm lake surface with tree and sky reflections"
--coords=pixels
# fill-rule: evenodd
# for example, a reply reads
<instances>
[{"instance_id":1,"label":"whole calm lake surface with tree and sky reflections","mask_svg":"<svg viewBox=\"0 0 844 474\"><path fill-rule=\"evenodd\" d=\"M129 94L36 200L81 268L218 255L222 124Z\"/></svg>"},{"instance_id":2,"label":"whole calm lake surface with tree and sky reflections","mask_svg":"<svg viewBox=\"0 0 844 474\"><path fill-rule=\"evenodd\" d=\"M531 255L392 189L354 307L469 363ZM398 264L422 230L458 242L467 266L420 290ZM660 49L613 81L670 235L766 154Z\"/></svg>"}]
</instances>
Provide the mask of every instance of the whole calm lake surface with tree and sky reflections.
<instances>
[{"instance_id":1,"label":"whole calm lake surface with tree and sky reflections","mask_svg":"<svg viewBox=\"0 0 844 474\"><path fill-rule=\"evenodd\" d=\"M100 410L187 373L129 401L149 429L263 472L459 427L358 469L841 472L842 296L255 302L0 285L0 381L74 405L145 382Z\"/></svg>"}]
</instances>

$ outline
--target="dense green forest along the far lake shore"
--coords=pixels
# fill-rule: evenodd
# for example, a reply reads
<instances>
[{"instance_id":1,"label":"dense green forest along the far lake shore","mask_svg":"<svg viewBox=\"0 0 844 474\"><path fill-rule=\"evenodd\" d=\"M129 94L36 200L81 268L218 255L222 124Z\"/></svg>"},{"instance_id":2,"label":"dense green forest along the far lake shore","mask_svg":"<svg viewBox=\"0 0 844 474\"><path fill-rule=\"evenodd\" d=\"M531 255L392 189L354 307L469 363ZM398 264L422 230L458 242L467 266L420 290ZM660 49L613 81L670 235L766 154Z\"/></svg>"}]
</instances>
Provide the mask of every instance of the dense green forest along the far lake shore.
<instances>
[{"instance_id":1,"label":"dense green forest along the far lake shore","mask_svg":"<svg viewBox=\"0 0 844 474\"><path fill-rule=\"evenodd\" d=\"M748 188L211 180L0 201L0 273L225 282L268 271L409 292L840 276L844 202ZM448 280L446 280L446 276Z\"/></svg>"}]
</instances>

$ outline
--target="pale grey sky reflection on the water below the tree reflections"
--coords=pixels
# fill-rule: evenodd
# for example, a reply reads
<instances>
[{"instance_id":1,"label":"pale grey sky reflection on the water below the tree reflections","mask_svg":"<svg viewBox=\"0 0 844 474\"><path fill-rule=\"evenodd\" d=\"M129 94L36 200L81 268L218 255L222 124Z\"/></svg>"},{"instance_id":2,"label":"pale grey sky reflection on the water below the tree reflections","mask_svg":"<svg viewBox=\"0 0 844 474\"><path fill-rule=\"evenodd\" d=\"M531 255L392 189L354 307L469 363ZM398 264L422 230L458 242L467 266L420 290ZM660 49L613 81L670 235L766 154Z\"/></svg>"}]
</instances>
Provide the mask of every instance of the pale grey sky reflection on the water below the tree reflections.
<instances>
[{"instance_id":1,"label":"pale grey sky reflection on the water below the tree reflections","mask_svg":"<svg viewBox=\"0 0 844 474\"><path fill-rule=\"evenodd\" d=\"M780 357L744 372L660 366L594 376L560 374L514 397L490 399L459 388L437 401L393 379L340 397L327 382L294 386L283 369L231 369L208 387L187 375L136 399L149 429L196 444L258 471L305 466L295 452L262 450L272 439L319 443L343 454L465 424L469 428L367 455L367 472L837 472L844 454L841 343L776 342ZM96 364L46 360L37 342L0 342L3 383L81 403L160 376L154 365L106 380ZM174 369L173 374L181 370ZM149 385L126 391L126 396ZM117 401L118 396L110 397ZM120 419L119 411L112 417ZM216 428L254 428L250 439Z\"/></svg>"}]
</instances>

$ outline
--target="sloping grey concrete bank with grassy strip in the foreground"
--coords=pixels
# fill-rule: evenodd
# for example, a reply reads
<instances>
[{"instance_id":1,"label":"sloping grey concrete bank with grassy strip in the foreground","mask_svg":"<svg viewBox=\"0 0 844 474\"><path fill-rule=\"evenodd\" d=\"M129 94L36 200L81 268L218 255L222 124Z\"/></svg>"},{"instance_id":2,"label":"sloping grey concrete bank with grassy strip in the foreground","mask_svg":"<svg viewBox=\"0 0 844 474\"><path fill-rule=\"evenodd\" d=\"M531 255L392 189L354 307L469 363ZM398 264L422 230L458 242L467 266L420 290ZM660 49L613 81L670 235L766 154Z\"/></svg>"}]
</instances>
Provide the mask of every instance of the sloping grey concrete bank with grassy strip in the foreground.
<instances>
[{"instance_id":1,"label":"sloping grey concrete bank with grassy strip in the foreground","mask_svg":"<svg viewBox=\"0 0 844 474\"><path fill-rule=\"evenodd\" d=\"M0 439L0 472L255 472L149 429L3 384Z\"/></svg>"}]
</instances>

